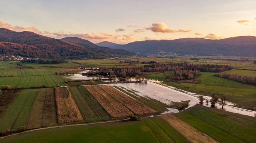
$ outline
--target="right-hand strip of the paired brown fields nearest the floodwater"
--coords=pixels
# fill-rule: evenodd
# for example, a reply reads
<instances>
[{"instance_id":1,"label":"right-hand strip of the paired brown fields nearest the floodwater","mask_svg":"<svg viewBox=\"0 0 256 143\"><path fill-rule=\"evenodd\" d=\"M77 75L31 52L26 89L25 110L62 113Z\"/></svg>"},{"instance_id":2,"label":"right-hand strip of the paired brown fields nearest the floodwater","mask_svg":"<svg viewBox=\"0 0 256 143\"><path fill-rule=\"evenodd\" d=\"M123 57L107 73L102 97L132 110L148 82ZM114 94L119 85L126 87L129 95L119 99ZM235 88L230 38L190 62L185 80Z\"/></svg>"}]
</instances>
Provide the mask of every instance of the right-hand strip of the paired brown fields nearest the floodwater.
<instances>
[{"instance_id":1,"label":"right-hand strip of the paired brown fields nearest the floodwater","mask_svg":"<svg viewBox=\"0 0 256 143\"><path fill-rule=\"evenodd\" d=\"M130 109L136 115L142 116L157 113L157 111L155 111L154 109L151 109L140 101L135 100L134 98L124 94L123 92L120 92L112 86L101 86L101 89L114 97L117 101L122 103L125 107Z\"/></svg>"}]
</instances>

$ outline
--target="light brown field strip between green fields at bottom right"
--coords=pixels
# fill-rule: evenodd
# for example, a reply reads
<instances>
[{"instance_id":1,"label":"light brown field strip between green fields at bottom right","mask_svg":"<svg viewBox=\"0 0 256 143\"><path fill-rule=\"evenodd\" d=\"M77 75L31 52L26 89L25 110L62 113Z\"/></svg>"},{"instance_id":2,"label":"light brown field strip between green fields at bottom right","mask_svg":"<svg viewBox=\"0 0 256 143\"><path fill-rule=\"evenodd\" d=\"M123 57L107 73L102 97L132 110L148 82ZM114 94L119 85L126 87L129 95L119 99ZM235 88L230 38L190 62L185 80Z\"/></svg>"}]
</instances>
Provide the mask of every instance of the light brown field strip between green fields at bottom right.
<instances>
[{"instance_id":1,"label":"light brown field strip between green fields at bottom right","mask_svg":"<svg viewBox=\"0 0 256 143\"><path fill-rule=\"evenodd\" d=\"M172 114L163 115L161 118L183 137L189 140L190 143L218 143L216 140L206 136L204 133L198 131Z\"/></svg>"}]
</instances>

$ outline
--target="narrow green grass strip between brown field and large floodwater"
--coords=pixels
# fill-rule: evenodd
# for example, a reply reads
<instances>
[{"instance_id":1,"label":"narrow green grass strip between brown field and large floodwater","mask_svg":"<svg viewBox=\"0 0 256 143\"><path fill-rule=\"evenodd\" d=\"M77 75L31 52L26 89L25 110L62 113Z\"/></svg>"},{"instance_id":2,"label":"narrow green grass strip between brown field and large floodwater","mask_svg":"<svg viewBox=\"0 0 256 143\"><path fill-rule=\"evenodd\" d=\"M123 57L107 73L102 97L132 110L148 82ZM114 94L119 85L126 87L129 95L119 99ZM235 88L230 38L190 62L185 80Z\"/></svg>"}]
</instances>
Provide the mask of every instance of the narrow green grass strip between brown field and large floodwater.
<instances>
[{"instance_id":1,"label":"narrow green grass strip between brown field and large floodwater","mask_svg":"<svg viewBox=\"0 0 256 143\"><path fill-rule=\"evenodd\" d=\"M166 108L171 108L171 106L166 105L158 100L139 96L135 92L125 89L124 87L118 87L118 86L113 86L113 87L120 90L121 92L124 92L125 94L133 97L134 99L140 101L141 103L144 103L148 107L156 110L158 113L166 112L166 111L168 111L168 109L166 109Z\"/></svg>"}]
</instances>

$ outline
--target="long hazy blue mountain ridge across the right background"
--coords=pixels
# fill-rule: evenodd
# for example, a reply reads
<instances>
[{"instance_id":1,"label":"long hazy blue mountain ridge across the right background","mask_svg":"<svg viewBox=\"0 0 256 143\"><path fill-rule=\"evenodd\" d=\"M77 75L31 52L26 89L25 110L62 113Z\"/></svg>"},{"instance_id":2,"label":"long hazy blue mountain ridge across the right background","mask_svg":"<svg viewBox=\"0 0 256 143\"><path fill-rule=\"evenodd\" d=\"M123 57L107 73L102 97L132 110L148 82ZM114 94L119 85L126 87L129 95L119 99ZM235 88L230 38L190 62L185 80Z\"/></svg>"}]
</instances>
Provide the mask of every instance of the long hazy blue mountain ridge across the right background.
<instances>
[{"instance_id":1,"label":"long hazy blue mountain ridge across the right background","mask_svg":"<svg viewBox=\"0 0 256 143\"><path fill-rule=\"evenodd\" d=\"M110 46L139 54L170 52L201 56L256 56L256 37L240 36L221 40L183 38L175 40L146 40Z\"/></svg>"}]
</instances>

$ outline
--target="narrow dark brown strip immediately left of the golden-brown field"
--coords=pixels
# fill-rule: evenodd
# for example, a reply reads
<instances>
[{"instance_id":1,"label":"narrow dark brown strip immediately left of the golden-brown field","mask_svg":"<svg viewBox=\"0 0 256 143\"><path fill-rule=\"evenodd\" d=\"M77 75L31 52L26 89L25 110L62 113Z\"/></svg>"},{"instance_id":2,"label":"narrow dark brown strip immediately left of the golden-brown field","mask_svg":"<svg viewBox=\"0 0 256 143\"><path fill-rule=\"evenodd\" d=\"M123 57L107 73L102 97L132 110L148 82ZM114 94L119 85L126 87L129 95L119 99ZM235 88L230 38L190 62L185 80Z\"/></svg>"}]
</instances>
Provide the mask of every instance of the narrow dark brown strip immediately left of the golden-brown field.
<instances>
[{"instance_id":1,"label":"narrow dark brown strip immediately left of the golden-brown field","mask_svg":"<svg viewBox=\"0 0 256 143\"><path fill-rule=\"evenodd\" d=\"M56 125L56 111L54 100L54 89L47 88L44 100L44 113L42 126L54 126Z\"/></svg>"}]
</instances>

